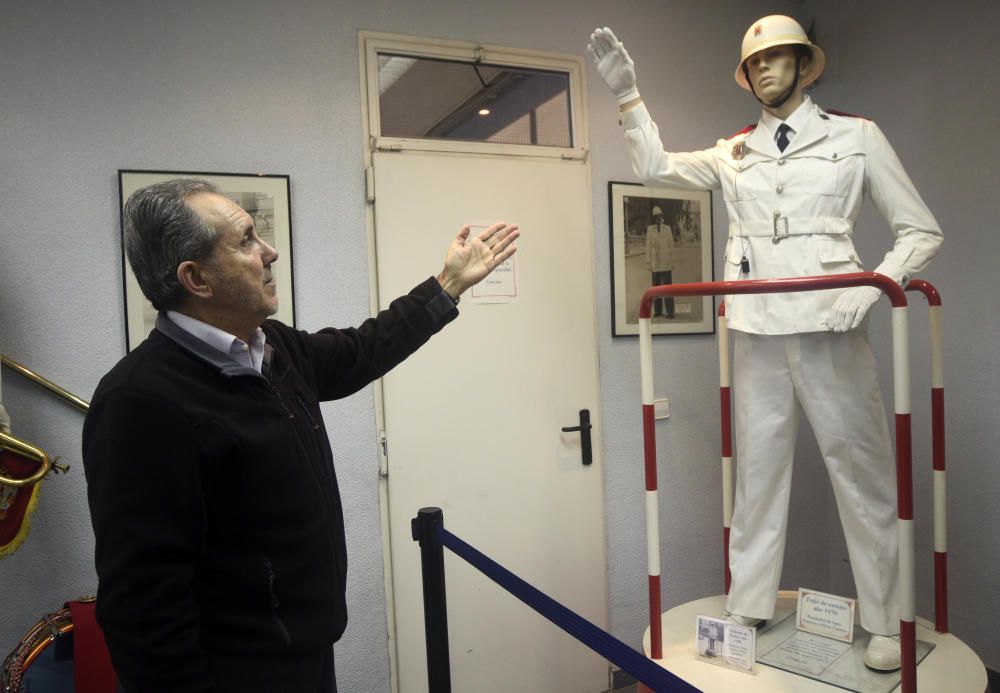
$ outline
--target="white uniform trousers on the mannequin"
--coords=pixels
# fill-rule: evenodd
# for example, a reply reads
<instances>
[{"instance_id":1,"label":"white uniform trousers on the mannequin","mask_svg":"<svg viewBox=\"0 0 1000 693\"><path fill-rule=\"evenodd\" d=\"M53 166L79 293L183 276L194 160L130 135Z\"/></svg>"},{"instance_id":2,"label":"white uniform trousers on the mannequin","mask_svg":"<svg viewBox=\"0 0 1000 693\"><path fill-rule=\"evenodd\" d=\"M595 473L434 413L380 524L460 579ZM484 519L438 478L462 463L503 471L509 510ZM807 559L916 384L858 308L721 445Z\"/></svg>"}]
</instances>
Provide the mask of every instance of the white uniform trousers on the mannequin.
<instances>
[{"instance_id":1,"label":"white uniform trousers on the mannequin","mask_svg":"<svg viewBox=\"0 0 1000 693\"><path fill-rule=\"evenodd\" d=\"M861 625L898 633L895 461L867 334L737 331L733 397L737 481L726 608L774 614L801 406L830 474Z\"/></svg>"}]
</instances>

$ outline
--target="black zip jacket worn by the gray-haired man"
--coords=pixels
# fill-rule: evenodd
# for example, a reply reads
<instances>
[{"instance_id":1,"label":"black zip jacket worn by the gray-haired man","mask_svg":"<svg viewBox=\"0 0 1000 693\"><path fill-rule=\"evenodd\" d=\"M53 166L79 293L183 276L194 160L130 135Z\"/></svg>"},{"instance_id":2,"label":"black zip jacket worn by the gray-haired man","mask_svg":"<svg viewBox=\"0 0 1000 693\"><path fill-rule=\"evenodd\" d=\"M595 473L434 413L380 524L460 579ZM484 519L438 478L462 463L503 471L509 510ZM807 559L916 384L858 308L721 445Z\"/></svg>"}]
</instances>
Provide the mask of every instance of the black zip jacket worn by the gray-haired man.
<instances>
[{"instance_id":1,"label":"black zip jacket worn by the gray-haired man","mask_svg":"<svg viewBox=\"0 0 1000 693\"><path fill-rule=\"evenodd\" d=\"M456 315L429 279L356 329L268 320L263 374L160 316L101 380L83 456L97 616L126 689L228 690L233 661L287 667L340 637L347 552L319 402Z\"/></svg>"}]
</instances>

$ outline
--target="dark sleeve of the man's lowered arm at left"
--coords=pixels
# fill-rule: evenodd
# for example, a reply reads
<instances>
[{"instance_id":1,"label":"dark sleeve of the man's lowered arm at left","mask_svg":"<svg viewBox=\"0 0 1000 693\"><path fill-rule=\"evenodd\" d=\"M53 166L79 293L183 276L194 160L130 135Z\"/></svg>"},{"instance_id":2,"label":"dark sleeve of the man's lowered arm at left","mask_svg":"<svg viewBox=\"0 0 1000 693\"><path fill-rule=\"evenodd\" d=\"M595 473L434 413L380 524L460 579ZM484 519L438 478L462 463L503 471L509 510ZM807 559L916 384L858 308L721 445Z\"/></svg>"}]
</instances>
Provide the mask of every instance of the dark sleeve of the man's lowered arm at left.
<instances>
[{"instance_id":1,"label":"dark sleeve of the man's lowered arm at left","mask_svg":"<svg viewBox=\"0 0 1000 693\"><path fill-rule=\"evenodd\" d=\"M196 440L179 412L128 391L97 399L84 424L97 619L130 692L215 689L192 587L207 526Z\"/></svg>"}]
</instances>

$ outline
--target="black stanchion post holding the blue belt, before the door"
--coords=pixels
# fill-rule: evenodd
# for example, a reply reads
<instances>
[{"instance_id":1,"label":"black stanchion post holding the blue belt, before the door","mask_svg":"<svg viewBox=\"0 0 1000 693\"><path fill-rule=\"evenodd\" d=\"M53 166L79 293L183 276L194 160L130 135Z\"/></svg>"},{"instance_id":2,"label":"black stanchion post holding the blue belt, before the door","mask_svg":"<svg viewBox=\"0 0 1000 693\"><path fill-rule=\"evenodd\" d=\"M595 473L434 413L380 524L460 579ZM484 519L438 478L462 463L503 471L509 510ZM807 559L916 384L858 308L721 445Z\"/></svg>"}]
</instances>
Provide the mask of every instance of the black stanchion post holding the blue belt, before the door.
<instances>
[{"instance_id":1,"label":"black stanchion post holding the blue belt, before the door","mask_svg":"<svg viewBox=\"0 0 1000 693\"><path fill-rule=\"evenodd\" d=\"M421 508L410 520L413 541L420 542L424 581L424 637L427 640L427 683L430 693L451 693L448 658L448 608L445 603L444 547L437 536L444 527L441 508Z\"/></svg>"}]
</instances>

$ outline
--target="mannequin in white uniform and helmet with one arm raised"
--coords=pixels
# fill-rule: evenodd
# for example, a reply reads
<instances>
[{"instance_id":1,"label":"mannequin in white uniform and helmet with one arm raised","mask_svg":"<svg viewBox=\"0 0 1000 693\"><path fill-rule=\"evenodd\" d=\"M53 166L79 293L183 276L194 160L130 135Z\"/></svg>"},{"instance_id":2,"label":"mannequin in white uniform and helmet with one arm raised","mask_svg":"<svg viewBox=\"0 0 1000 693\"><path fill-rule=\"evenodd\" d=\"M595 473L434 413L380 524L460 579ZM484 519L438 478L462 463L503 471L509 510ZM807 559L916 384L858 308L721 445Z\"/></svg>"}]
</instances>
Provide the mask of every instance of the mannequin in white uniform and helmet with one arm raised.
<instances>
[{"instance_id":1,"label":"mannequin in white uniform and helmet with one arm raised","mask_svg":"<svg viewBox=\"0 0 1000 693\"><path fill-rule=\"evenodd\" d=\"M589 46L614 91L636 175L686 189L722 189L729 212L725 279L861 271L852 235L870 196L894 235L876 268L905 286L941 244L941 229L871 121L823 110L804 89L825 57L794 19L764 17L744 38L737 84L763 106L715 147L664 151L636 87L635 65L610 29ZM830 473L870 633L865 663L899 667L895 475L865 315L872 287L726 297L735 331L737 484L727 608L739 623L774 612L801 407Z\"/></svg>"}]
</instances>

